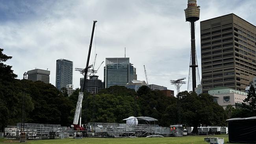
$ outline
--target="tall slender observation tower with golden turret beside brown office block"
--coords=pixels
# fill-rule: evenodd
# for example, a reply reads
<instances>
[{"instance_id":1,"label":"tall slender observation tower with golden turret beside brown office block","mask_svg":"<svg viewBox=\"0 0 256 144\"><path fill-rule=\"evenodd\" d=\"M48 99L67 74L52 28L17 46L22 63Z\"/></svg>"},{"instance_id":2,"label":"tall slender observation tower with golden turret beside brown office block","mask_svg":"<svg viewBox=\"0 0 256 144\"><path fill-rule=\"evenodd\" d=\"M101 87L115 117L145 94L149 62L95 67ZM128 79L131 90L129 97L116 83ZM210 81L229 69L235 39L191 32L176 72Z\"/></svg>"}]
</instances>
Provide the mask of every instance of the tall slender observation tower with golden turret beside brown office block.
<instances>
[{"instance_id":1,"label":"tall slender observation tower with golden turret beside brown office block","mask_svg":"<svg viewBox=\"0 0 256 144\"><path fill-rule=\"evenodd\" d=\"M199 71L197 65L197 55L195 46L195 22L199 20L200 6L197 6L197 0L188 0L187 8L185 11L186 21L190 22L191 26L191 54L190 54L190 64L189 64L189 79L187 89L191 89L195 92L197 84L200 84ZM192 72L191 72L192 71ZM191 79L192 76L192 79ZM192 81L191 81L192 80Z\"/></svg>"}]
</instances>

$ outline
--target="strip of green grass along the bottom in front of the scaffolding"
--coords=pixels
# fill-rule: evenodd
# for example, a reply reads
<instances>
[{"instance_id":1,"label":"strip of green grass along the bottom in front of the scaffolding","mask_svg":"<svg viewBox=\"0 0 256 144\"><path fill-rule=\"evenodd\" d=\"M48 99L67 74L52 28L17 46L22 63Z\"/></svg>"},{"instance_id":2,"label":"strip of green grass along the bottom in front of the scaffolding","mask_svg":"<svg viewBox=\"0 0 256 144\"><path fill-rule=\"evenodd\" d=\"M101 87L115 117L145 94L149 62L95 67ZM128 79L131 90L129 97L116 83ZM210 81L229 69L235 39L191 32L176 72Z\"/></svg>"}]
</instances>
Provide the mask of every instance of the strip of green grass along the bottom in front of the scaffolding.
<instances>
[{"instance_id":1,"label":"strip of green grass along the bottom in front of the scaffolding","mask_svg":"<svg viewBox=\"0 0 256 144\"><path fill-rule=\"evenodd\" d=\"M54 139L54 140L28 140L28 144L209 144L204 141L209 136L164 137L164 138L83 138L83 139ZM228 135L215 135L211 137L224 138L228 142ZM0 139L0 144L18 143L10 139Z\"/></svg>"}]
</instances>

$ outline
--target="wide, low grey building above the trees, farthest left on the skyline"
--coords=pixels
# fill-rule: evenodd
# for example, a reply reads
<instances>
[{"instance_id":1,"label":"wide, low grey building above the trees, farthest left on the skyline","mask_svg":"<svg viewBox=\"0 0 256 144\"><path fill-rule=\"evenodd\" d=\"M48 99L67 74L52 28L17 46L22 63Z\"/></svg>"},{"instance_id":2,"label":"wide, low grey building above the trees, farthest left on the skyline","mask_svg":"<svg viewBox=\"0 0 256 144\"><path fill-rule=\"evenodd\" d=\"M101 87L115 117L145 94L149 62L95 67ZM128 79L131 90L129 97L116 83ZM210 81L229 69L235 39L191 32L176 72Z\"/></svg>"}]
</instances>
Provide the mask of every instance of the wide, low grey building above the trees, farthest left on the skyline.
<instances>
[{"instance_id":1,"label":"wide, low grey building above the trees, farthest left on the skyline","mask_svg":"<svg viewBox=\"0 0 256 144\"><path fill-rule=\"evenodd\" d=\"M50 83L50 71L41 69L28 70L28 80Z\"/></svg>"}]
</instances>

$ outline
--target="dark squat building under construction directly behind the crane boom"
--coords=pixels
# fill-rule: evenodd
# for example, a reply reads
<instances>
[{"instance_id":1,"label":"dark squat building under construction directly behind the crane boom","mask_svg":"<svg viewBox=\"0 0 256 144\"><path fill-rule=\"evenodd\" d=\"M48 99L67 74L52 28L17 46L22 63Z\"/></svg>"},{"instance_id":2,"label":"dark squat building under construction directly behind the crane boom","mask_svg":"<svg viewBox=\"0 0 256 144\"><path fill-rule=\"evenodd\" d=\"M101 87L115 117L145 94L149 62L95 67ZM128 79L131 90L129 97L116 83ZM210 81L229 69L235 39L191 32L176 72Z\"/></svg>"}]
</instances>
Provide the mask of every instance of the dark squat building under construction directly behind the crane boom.
<instances>
[{"instance_id":1,"label":"dark squat building under construction directly behind the crane boom","mask_svg":"<svg viewBox=\"0 0 256 144\"><path fill-rule=\"evenodd\" d=\"M103 89L103 83L99 76L90 76L89 79L86 79L85 89L90 93L97 94L101 89ZM80 78L80 88L82 88L83 78Z\"/></svg>"}]
</instances>

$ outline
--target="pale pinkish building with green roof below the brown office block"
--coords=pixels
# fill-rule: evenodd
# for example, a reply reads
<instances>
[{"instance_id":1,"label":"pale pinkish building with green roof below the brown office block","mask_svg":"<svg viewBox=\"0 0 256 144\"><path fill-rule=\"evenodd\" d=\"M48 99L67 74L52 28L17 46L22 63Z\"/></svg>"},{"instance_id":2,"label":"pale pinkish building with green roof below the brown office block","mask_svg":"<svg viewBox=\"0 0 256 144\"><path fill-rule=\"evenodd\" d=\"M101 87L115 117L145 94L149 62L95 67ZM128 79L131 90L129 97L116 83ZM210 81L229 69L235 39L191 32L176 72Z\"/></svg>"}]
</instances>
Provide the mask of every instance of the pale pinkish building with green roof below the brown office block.
<instances>
[{"instance_id":1,"label":"pale pinkish building with green roof below the brown office block","mask_svg":"<svg viewBox=\"0 0 256 144\"><path fill-rule=\"evenodd\" d=\"M215 87L209 90L208 93L214 97L214 102L217 102L224 109L227 105L241 109L243 100L247 98L247 92L226 87Z\"/></svg>"}]
</instances>

